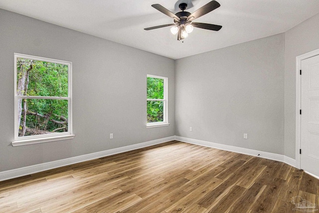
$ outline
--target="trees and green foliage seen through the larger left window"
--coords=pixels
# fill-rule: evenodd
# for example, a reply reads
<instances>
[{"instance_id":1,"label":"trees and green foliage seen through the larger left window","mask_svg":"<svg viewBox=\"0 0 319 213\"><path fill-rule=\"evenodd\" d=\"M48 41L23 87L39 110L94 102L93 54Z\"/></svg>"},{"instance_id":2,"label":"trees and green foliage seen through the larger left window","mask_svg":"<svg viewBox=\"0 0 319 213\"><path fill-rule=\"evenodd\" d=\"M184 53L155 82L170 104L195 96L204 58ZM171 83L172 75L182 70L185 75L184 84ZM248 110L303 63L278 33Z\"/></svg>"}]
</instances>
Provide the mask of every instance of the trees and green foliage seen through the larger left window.
<instances>
[{"instance_id":1,"label":"trees and green foliage seen through the larger left window","mask_svg":"<svg viewBox=\"0 0 319 213\"><path fill-rule=\"evenodd\" d=\"M17 58L17 95L68 97L68 65ZM68 100L18 98L19 137L68 131Z\"/></svg>"}]
</instances>

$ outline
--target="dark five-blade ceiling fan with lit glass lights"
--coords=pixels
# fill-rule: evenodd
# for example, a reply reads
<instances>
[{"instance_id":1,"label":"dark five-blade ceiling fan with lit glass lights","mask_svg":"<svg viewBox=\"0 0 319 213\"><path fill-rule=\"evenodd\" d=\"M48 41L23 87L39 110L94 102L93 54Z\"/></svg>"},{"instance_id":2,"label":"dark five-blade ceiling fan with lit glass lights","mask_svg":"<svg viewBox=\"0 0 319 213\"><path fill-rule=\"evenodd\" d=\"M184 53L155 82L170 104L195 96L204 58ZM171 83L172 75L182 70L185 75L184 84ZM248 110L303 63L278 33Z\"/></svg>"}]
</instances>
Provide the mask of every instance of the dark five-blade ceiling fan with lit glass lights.
<instances>
[{"instance_id":1,"label":"dark five-blade ceiling fan with lit glass lights","mask_svg":"<svg viewBox=\"0 0 319 213\"><path fill-rule=\"evenodd\" d=\"M220 4L215 0L210 1L209 3L200 7L193 13L184 11L187 7L187 3L180 3L179 8L182 11L177 12L176 14L172 13L171 11L169 11L168 9L166 9L160 4L152 4L152 6L156 8L157 10L159 10L160 12L164 13L165 15L168 15L169 17L173 18L174 23L163 24L159 26L152 26L152 27L145 28L145 30L158 29L158 28L166 27L166 26L173 26L170 28L170 31L174 35L177 34L177 40L182 40L186 38L188 36L188 33L193 31L193 27L209 29L214 31L218 31L222 27L220 25L215 25L210 23L192 22L194 19L218 8Z\"/></svg>"}]
</instances>

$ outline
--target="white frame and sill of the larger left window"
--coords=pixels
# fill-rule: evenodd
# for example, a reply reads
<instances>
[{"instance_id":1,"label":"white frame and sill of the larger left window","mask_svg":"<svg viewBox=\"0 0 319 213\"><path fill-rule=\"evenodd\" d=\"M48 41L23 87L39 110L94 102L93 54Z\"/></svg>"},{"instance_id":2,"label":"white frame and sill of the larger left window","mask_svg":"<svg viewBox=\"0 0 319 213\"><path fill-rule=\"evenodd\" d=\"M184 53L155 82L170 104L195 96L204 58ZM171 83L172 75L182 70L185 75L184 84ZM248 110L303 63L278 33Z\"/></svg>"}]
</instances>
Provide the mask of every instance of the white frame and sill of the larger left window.
<instances>
[{"instance_id":1,"label":"white frame and sill of the larger left window","mask_svg":"<svg viewBox=\"0 0 319 213\"><path fill-rule=\"evenodd\" d=\"M17 58L25 58L31 60L39 60L51 63L65 64L68 66L68 97L47 97L47 96L22 96L17 95ZM12 146L23 146L29 144L38 144L51 141L67 140L74 138L72 132L72 62L61 61L50 58L43 58L32 55L25 55L14 53L14 141ZM19 124L18 124L18 99L57 99L57 100L68 100L68 132L59 132L46 135L32 135L32 136L23 136L18 137L19 134Z\"/></svg>"}]
</instances>

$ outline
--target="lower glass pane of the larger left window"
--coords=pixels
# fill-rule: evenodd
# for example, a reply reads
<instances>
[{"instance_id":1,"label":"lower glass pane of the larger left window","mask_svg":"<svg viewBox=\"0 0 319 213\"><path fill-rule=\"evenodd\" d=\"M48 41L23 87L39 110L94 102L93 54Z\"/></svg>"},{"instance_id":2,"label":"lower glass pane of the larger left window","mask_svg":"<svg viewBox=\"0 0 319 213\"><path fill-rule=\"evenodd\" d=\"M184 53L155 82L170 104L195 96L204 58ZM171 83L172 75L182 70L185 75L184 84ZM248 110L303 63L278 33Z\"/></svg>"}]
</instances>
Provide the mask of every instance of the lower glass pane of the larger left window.
<instances>
[{"instance_id":1,"label":"lower glass pane of the larger left window","mask_svg":"<svg viewBox=\"0 0 319 213\"><path fill-rule=\"evenodd\" d=\"M19 137L68 131L68 100L18 99Z\"/></svg>"}]
</instances>

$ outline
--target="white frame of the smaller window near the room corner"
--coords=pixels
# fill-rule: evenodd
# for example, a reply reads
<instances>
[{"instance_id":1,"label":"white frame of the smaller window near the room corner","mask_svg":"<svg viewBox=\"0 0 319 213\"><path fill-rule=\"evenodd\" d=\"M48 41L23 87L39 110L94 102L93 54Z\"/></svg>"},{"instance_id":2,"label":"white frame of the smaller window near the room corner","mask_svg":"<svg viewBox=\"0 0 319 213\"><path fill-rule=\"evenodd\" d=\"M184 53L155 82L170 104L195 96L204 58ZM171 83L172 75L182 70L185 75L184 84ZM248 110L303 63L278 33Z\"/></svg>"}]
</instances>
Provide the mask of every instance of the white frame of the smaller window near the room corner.
<instances>
[{"instance_id":1,"label":"white frame of the smaller window near the room corner","mask_svg":"<svg viewBox=\"0 0 319 213\"><path fill-rule=\"evenodd\" d=\"M146 128L153 128L153 127L162 127L162 126L168 126L168 78L167 77L162 77L162 76L157 76L157 75L147 75L147 77L151 78L160 78L163 79L163 99L149 99L147 98L147 101L163 101L163 121L161 122L153 122L153 123L148 123Z\"/></svg>"}]
</instances>

